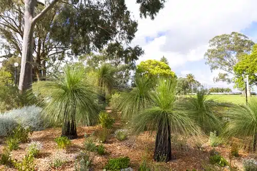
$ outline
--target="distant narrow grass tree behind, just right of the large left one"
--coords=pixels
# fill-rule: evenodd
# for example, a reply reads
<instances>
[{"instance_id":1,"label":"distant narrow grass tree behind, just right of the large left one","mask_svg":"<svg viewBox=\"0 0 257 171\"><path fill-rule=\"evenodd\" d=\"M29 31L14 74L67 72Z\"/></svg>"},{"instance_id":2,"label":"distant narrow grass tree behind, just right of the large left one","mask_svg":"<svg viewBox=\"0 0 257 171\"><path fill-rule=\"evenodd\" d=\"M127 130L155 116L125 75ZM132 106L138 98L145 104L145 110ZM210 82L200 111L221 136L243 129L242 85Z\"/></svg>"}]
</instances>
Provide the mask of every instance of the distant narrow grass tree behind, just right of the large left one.
<instances>
[{"instance_id":1,"label":"distant narrow grass tree behind, just right of the large left one","mask_svg":"<svg viewBox=\"0 0 257 171\"><path fill-rule=\"evenodd\" d=\"M103 98L102 101L105 101L106 92L111 93L114 87L115 72L116 69L108 63L103 63L96 71L96 83L100 88L100 93Z\"/></svg>"}]
</instances>

